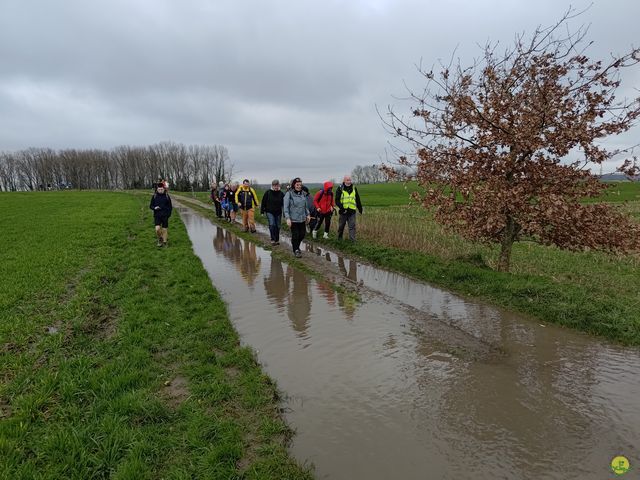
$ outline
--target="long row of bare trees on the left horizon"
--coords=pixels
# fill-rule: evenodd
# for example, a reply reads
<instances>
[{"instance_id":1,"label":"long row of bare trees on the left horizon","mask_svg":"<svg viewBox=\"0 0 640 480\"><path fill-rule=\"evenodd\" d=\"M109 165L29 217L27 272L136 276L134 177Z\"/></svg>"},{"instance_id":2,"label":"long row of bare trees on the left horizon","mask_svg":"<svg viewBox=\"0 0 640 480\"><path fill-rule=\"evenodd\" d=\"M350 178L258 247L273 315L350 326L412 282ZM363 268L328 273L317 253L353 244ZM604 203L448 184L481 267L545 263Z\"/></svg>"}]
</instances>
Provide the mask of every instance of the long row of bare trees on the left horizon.
<instances>
[{"instance_id":1,"label":"long row of bare trees on the left horizon","mask_svg":"<svg viewBox=\"0 0 640 480\"><path fill-rule=\"evenodd\" d=\"M0 152L0 191L151 188L159 177L173 190L208 190L212 181L228 182L232 175L229 151L221 145Z\"/></svg>"}]
</instances>

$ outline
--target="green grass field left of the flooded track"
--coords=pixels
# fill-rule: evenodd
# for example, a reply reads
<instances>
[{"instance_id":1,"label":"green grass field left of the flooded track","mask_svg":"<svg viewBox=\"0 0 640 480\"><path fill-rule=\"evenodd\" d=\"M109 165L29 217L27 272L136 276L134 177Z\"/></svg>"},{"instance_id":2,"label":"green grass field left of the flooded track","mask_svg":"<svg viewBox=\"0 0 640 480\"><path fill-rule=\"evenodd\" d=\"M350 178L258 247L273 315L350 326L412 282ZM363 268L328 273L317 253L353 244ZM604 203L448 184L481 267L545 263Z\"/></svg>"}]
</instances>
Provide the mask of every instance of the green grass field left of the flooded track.
<instances>
[{"instance_id":1,"label":"green grass field left of the flooded track","mask_svg":"<svg viewBox=\"0 0 640 480\"><path fill-rule=\"evenodd\" d=\"M149 197L0 194L0 478L311 478L277 391Z\"/></svg>"}]
</instances>

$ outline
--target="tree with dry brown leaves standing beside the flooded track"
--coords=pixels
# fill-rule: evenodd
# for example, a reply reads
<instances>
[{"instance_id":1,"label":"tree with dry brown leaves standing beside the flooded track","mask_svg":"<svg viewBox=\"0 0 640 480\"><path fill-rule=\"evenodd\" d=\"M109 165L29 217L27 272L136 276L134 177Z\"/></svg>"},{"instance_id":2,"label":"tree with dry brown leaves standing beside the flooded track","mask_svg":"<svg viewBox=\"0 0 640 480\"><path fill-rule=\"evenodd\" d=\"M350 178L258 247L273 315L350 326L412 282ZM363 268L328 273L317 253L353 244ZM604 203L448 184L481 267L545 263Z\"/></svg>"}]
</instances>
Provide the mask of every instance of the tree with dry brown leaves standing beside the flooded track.
<instances>
[{"instance_id":1,"label":"tree with dry brown leaves standing beside the flooded track","mask_svg":"<svg viewBox=\"0 0 640 480\"><path fill-rule=\"evenodd\" d=\"M523 238L566 249L639 248L630 217L580 200L605 188L587 165L620 153L602 139L640 116L640 98L615 96L620 70L638 64L640 49L591 60L579 50L586 30L567 28L575 16L569 10L530 38L516 36L503 53L487 44L468 68L420 69L427 85L411 93L411 119L389 110L391 133L415 149L399 164L413 167L425 187L422 204L467 238L499 243L501 271Z\"/></svg>"}]
</instances>

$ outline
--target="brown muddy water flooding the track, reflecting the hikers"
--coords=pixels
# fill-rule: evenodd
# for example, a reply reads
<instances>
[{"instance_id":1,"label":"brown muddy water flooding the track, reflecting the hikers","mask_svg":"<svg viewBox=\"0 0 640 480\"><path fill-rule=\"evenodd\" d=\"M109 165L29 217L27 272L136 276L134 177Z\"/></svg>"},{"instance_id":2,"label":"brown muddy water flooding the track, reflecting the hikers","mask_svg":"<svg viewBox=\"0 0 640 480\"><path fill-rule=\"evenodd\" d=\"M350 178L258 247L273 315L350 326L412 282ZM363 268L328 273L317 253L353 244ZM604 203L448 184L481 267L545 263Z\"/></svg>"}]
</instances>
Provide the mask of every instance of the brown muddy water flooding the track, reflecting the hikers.
<instances>
[{"instance_id":1,"label":"brown muddy water flooding the track, reflecting the hikers","mask_svg":"<svg viewBox=\"0 0 640 480\"><path fill-rule=\"evenodd\" d=\"M640 478L640 351L344 259L354 303L181 209L245 344L288 394L292 453L330 479Z\"/></svg>"}]
</instances>

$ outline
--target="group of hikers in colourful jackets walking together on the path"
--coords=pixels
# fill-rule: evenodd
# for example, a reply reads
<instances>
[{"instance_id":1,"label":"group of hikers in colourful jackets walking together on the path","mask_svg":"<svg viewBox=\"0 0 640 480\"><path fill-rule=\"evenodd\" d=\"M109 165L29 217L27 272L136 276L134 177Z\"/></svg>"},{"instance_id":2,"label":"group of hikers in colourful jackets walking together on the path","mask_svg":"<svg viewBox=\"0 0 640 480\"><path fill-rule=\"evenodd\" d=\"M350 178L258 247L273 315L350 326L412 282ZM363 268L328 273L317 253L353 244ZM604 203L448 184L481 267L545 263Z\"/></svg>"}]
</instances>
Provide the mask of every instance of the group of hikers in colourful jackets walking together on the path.
<instances>
[{"instance_id":1,"label":"group of hikers in colourful jackets walking together on the path","mask_svg":"<svg viewBox=\"0 0 640 480\"><path fill-rule=\"evenodd\" d=\"M267 217L271 245L280 244L280 226L282 217L291 230L291 244L296 257L302 256L300 244L304 240L307 229L317 238L318 231L324 225L323 238L329 238L331 217L338 211L338 238L341 239L346 225L349 226L349 238L356 239L356 212L362 213L362 203L358 189L353 185L350 176L345 176L343 183L333 192L333 183L324 182L322 188L311 195L299 177L291 180L286 192L282 191L280 181L271 182L271 189L262 198L251 186L248 179L242 185L237 183L211 185L211 201L218 218L234 222L238 210L242 215L242 226L245 232L255 232L255 210Z\"/></svg>"}]
</instances>

